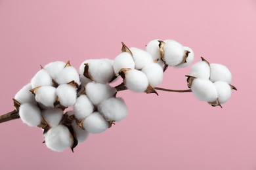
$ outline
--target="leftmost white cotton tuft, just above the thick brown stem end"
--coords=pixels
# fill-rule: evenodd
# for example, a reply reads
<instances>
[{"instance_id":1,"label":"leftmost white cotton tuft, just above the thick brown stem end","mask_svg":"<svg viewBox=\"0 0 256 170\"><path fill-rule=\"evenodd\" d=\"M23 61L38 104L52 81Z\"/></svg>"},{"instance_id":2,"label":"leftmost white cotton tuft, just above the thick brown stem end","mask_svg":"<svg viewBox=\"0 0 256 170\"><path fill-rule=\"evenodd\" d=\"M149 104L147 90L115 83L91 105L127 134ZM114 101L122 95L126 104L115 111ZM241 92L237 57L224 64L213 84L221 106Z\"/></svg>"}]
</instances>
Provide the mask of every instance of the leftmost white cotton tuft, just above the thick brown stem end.
<instances>
[{"instance_id":1,"label":"leftmost white cotton tuft, just above the thick brown stem end","mask_svg":"<svg viewBox=\"0 0 256 170\"><path fill-rule=\"evenodd\" d=\"M35 104L35 95L33 95L30 90L32 89L31 84L27 84L23 88L21 88L16 95L14 96L14 99L18 101L20 104L22 103L33 103Z\"/></svg>"}]
</instances>

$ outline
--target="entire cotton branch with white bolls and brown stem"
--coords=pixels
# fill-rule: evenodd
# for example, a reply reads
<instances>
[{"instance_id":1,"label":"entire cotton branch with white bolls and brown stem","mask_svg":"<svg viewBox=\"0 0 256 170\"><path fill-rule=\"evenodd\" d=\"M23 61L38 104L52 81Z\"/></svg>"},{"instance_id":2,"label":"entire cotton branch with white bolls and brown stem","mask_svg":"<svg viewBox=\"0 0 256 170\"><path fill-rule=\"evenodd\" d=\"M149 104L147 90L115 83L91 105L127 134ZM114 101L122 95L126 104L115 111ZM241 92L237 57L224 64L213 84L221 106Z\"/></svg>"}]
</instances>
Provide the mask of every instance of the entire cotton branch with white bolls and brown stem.
<instances>
[{"instance_id":1,"label":"entire cotton branch with white bolls and brown stem","mask_svg":"<svg viewBox=\"0 0 256 170\"><path fill-rule=\"evenodd\" d=\"M45 145L54 151L85 141L89 133L101 133L123 120L128 108L117 93L122 90L156 93L192 92L212 106L228 101L232 75L224 65L202 61L192 65L187 90L157 87L168 67L192 63L194 52L174 40L148 42L146 50L128 48L122 42L115 59L87 59L79 73L70 62L54 61L33 76L13 98L14 110L0 116L0 123L20 118L28 126L43 129ZM117 78L123 80L112 86ZM67 111L68 110L68 111Z\"/></svg>"}]
</instances>

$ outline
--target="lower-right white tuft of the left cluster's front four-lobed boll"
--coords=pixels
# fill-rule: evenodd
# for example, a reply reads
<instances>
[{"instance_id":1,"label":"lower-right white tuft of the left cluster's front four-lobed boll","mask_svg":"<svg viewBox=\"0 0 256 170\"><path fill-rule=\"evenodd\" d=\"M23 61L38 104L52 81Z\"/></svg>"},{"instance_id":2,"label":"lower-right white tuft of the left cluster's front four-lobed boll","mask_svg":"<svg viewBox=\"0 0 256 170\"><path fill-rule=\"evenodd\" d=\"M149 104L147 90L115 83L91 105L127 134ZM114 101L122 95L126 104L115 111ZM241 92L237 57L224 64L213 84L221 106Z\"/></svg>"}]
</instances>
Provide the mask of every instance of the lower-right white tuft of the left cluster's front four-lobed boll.
<instances>
[{"instance_id":1,"label":"lower-right white tuft of the left cluster's front four-lobed boll","mask_svg":"<svg viewBox=\"0 0 256 170\"><path fill-rule=\"evenodd\" d=\"M64 107L73 106L77 97L76 88L70 84L60 84L60 86L56 88L56 95L58 96L60 105Z\"/></svg>"}]
</instances>

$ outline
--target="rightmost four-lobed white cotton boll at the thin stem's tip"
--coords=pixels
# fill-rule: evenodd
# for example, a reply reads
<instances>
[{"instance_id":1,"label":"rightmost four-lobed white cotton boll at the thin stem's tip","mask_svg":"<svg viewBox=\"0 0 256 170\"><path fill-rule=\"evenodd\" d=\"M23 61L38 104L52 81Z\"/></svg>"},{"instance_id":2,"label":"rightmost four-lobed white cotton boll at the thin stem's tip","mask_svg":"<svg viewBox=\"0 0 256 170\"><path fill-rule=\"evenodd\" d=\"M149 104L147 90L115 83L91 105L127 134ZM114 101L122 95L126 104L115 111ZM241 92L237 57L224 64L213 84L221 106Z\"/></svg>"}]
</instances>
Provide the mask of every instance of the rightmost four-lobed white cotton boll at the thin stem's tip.
<instances>
[{"instance_id":1,"label":"rightmost four-lobed white cotton boll at the thin stem's tip","mask_svg":"<svg viewBox=\"0 0 256 170\"><path fill-rule=\"evenodd\" d=\"M236 90L230 84L231 80L232 74L226 66L209 63L204 58L192 65L187 79L188 87L197 99L220 107L230 99L231 91Z\"/></svg>"}]
</instances>

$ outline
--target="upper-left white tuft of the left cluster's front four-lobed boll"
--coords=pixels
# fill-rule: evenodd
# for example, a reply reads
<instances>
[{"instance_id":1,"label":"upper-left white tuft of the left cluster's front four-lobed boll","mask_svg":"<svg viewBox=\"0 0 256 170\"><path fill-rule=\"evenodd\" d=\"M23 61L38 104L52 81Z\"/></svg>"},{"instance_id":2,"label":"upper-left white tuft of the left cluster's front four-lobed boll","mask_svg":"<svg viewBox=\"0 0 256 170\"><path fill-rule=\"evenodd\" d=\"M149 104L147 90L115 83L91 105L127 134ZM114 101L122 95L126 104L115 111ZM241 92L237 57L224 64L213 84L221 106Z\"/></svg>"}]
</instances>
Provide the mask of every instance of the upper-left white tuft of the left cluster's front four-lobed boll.
<instances>
[{"instance_id":1,"label":"upper-left white tuft of the left cluster's front four-lobed boll","mask_svg":"<svg viewBox=\"0 0 256 170\"><path fill-rule=\"evenodd\" d=\"M45 71L45 69L41 69L40 71L38 71L35 74L35 76L33 76L30 83L31 83L32 88L36 88L39 86L52 86L53 79L47 73L47 71Z\"/></svg>"}]
</instances>

